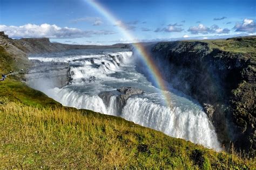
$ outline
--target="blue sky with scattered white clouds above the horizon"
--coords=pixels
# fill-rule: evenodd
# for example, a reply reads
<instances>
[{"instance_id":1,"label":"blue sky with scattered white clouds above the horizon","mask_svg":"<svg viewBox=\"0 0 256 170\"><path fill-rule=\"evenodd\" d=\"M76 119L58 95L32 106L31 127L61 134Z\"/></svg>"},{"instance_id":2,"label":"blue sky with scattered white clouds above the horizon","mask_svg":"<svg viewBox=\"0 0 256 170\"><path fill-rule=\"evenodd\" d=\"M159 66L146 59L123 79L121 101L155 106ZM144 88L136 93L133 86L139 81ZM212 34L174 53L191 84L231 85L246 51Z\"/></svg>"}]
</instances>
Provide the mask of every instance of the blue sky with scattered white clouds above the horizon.
<instances>
[{"instance_id":1,"label":"blue sky with scattered white clouds above the horizon","mask_svg":"<svg viewBox=\"0 0 256 170\"><path fill-rule=\"evenodd\" d=\"M0 0L0 31L84 45L256 35L255 0L90 1Z\"/></svg>"}]
</instances>

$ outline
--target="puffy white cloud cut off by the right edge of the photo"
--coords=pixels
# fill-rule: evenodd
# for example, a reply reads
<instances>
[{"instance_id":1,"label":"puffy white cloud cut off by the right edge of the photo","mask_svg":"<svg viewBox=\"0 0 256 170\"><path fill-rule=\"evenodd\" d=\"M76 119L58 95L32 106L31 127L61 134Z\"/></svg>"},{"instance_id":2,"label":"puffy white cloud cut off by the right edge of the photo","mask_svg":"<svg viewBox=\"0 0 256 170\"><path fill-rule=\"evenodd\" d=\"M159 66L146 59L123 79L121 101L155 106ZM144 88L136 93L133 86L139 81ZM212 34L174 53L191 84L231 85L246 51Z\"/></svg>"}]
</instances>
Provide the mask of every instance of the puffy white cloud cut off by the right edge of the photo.
<instances>
[{"instance_id":1,"label":"puffy white cloud cut off by the right edge of the photo","mask_svg":"<svg viewBox=\"0 0 256 170\"><path fill-rule=\"evenodd\" d=\"M234 28L236 32L256 32L256 24L252 19L245 18L242 23L235 24Z\"/></svg>"}]
</instances>

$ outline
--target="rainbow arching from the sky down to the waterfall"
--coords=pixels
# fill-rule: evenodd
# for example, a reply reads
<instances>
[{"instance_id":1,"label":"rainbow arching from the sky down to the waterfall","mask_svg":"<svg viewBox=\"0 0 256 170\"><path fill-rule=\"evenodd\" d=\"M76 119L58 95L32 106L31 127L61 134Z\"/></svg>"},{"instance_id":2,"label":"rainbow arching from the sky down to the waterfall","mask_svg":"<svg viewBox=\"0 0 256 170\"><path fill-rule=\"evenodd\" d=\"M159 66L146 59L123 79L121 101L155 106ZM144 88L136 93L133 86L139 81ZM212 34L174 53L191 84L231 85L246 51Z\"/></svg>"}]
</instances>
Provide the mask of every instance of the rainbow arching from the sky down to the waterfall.
<instances>
[{"instance_id":1,"label":"rainbow arching from the sky down to the waterfall","mask_svg":"<svg viewBox=\"0 0 256 170\"><path fill-rule=\"evenodd\" d=\"M95 0L85 0L85 1L89 5L91 5L94 9L96 9L99 13L101 13L104 17L110 20L110 22L112 22L114 25L117 25L119 31L123 33L126 38L128 38L131 41L134 41L135 38L132 36L132 34L129 31L127 31L128 29L126 25L120 22L116 17L114 17L110 11L104 8L103 5L101 5ZM171 106L170 93L168 93L166 83L163 77L161 76L161 73L157 68L156 64L154 64L154 61L152 60L150 54L146 52L146 49L140 43L133 43L133 46L136 48L136 51L138 52L138 54L142 56L143 61L146 63L147 67L149 68L150 72L153 75L153 80L156 83L157 88L160 89L161 94L165 98L166 105L170 107Z\"/></svg>"}]
</instances>

